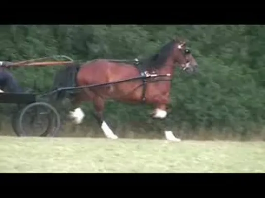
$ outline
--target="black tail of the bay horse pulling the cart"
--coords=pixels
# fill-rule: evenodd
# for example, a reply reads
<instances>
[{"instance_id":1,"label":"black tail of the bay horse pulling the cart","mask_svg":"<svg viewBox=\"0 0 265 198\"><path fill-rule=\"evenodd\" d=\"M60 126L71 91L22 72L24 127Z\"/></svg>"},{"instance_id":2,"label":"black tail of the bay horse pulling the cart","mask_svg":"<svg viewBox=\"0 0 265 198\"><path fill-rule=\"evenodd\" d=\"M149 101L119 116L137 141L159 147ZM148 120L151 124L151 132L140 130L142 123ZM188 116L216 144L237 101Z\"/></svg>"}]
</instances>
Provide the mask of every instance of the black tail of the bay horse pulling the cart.
<instances>
[{"instance_id":1,"label":"black tail of the bay horse pulling the cart","mask_svg":"<svg viewBox=\"0 0 265 198\"><path fill-rule=\"evenodd\" d=\"M53 80L52 90L63 87L76 87L76 75L79 71L80 64L73 63L57 71ZM57 95L57 100L62 100L66 97L75 95L75 91L66 90L60 91Z\"/></svg>"}]
</instances>

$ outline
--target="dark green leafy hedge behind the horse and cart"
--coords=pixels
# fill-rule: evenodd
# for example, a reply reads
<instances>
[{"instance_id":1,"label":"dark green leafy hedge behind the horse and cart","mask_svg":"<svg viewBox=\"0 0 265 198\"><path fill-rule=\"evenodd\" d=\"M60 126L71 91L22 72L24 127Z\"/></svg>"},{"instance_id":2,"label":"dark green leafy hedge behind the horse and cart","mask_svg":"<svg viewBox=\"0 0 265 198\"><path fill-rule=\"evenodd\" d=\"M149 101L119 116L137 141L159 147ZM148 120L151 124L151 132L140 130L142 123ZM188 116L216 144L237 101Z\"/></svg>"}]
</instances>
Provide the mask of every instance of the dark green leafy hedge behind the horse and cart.
<instances>
[{"instance_id":1,"label":"dark green leafy hedge behind the horse and cart","mask_svg":"<svg viewBox=\"0 0 265 198\"><path fill-rule=\"evenodd\" d=\"M183 133L214 129L219 134L260 134L265 123L264 25L1 25L0 60L52 55L82 61L141 59L176 36L188 41L200 73L189 76L176 70L170 127ZM32 87L36 81L38 91L45 91L56 69L13 72L22 86ZM91 105L84 108L84 125L95 127ZM9 115L9 109L1 105L1 116ZM152 122L149 109L110 102L106 118L117 130L158 132L160 123Z\"/></svg>"}]
</instances>

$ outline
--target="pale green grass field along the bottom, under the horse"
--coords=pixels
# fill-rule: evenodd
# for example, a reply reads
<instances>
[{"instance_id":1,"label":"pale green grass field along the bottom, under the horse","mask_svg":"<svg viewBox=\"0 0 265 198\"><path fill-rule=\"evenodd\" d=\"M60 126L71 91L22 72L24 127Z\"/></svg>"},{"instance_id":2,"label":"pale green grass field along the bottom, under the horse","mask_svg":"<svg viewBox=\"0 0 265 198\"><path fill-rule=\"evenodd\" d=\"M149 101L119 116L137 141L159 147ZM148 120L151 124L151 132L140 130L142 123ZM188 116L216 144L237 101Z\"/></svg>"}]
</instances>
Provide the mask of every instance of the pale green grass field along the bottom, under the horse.
<instances>
[{"instance_id":1,"label":"pale green grass field along the bottom, under the horse","mask_svg":"<svg viewBox=\"0 0 265 198\"><path fill-rule=\"evenodd\" d=\"M0 172L265 172L265 142L0 137Z\"/></svg>"}]
</instances>

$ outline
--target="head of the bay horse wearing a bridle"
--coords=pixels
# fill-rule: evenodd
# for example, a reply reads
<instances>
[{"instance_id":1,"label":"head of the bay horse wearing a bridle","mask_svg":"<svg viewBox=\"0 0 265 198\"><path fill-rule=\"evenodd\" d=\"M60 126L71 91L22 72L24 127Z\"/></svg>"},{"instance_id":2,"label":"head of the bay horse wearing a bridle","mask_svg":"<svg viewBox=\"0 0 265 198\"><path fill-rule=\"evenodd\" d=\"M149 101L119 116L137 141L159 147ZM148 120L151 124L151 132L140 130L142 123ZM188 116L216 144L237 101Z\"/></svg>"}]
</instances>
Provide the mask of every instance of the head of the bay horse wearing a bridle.
<instances>
[{"instance_id":1,"label":"head of the bay horse wearing a bridle","mask_svg":"<svg viewBox=\"0 0 265 198\"><path fill-rule=\"evenodd\" d=\"M182 70L188 73L198 71L197 61L194 59L191 50L187 48L186 42L176 41L174 60L181 66Z\"/></svg>"}]
</instances>

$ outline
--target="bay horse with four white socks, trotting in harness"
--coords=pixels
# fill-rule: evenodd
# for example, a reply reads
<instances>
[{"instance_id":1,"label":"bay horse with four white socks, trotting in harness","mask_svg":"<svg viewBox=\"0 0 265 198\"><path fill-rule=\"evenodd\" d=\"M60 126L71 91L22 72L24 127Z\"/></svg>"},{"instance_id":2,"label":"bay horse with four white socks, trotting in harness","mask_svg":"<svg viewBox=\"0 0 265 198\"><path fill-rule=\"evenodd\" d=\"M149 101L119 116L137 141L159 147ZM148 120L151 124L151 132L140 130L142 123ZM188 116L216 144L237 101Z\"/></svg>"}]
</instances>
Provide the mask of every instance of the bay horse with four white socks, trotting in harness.
<instances>
[{"instance_id":1,"label":"bay horse with four white socks, trotting in harness","mask_svg":"<svg viewBox=\"0 0 265 198\"><path fill-rule=\"evenodd\" d=\"M76 124L80 124L85 117L80 107L81 103L91 101L95 109L95 117L105 136L117 139L118 137L104 119L106 100L112 99L131 104L144 102L155 107L153 118L165 119L168 114L167 105L170 103L171 80L176 63L188 73L194 73L198 68L191 51L186 47L186 42L175 39L161 47L158 53L140 63L97 59L81 65L71 65L56 74L54 86L57 88L73 86L73 84L74 86L86 86L144 76L142 79L85 88L71 96L73 108L69 116ZM155 76L154 74L167 76ZM62 95L65 97L65 94ZM171 131L164 131L164 135L167 140L180 141Z\"/></svg>"}]
</instances>

